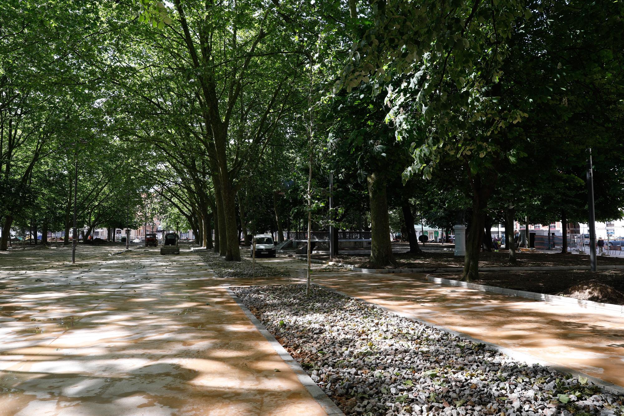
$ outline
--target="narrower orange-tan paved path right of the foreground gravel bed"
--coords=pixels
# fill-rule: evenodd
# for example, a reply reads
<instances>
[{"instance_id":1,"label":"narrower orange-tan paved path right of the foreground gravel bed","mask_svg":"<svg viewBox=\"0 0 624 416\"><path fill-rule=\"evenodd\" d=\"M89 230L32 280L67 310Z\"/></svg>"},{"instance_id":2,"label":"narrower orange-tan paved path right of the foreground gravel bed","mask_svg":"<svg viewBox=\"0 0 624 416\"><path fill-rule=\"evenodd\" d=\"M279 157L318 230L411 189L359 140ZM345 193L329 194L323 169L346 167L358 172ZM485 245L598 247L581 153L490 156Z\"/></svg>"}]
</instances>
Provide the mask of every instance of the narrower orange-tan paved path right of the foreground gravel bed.
<instances>
[{"instance_id":1,"label":"narrower orange-tan paved path right of the foreground gravel bed","mask_svg":"<svg viewBox=\"0 0 624 416\"><path fill-rule=\"evenodd\" d=\"M265 264L299 270L288 257ZM313 265L316 284L475 339L624 386L624 317L520 297L433 284L424 274L360 274ZM329 270L323 272L323 270ZM267 283L270 279L258 283Z\"/></svg>"}]
</instances>

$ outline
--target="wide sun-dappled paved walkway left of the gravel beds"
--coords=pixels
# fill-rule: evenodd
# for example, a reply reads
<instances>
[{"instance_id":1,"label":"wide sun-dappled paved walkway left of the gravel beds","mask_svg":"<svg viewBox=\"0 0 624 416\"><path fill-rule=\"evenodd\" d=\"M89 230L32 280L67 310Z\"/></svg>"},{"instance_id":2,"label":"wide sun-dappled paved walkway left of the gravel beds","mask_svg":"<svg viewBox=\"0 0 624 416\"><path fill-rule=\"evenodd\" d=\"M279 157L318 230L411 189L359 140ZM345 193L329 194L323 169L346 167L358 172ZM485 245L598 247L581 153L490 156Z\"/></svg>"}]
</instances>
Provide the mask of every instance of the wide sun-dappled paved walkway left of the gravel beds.
<instances>
[{"instance_id":1,"label":"wide sun-dappled paved walkway left of the gravel beds","mask_svg":"<svg viewBox=\"0 0 624 416\"><path fill-rule=\"evenodd\" d=\"M102 249L0 255L1 415L325 414L197 255Z\"/></svg>"}]
</instances>

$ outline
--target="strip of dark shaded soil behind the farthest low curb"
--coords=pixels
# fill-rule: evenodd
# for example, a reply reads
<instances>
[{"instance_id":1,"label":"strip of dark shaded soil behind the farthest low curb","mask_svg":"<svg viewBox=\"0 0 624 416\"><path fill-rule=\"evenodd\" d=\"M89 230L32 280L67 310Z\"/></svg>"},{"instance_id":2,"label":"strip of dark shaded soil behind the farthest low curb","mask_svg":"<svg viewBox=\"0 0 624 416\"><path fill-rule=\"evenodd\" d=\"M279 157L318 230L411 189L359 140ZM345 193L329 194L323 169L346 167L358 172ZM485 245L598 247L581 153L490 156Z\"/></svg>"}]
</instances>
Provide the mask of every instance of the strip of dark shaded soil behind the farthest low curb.
<instances>
[{"instance_id":1,"label":"strip of dark shaded soil behind the farthest low curb","mask_svg":"<svg viewBox=\"0 0 624 416\"><path fill-rule=\"evenodd\" d=\"M328 260L328 255L313 255L314 259ZM463 267L464 257L455 257L453 252L424 252L422 254L394 254L399 269L439 269L442 267ZM480 267L509 267L507 252L483 252L480 255ZM346 264L361 265L368 260L368 255L341 254L337 261ZM544 252L518 252L517 267L529 266L570 266L589 265L589 256L580 254L553 254ZM598 256L598 265L624 265L622 256Z\"/></svg>"}]
</instances>

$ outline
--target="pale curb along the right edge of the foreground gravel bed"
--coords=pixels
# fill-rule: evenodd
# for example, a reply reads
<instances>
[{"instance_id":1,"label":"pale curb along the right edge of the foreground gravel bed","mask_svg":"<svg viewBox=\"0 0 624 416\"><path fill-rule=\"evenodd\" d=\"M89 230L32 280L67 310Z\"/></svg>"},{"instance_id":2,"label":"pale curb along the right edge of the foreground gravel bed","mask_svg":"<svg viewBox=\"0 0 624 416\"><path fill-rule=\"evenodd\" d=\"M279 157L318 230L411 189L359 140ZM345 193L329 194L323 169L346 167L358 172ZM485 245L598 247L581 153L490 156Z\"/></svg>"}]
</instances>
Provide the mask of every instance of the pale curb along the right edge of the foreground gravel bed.
<instances>
[{"instance_id":1,"label":"pale curb along the right edge of the foreground gravel bed","mask_svg":"<svg viewBox=\"0 0 624 416\"><path fill-rule=\"evenodd\" d=\"M359 297L349 296L348 294L346 294L344 292L341 292L340 290L331 289L331 287L325 287L325 286L319 285L319 284L316 284L316 285L318 285L320 287L323 287L324 289L331 290L332 292L335 292L337 294L340 294L340 295L343 295L345 297L348 297L349 299L357 299L357 300L360 300L361 302L364 302L366 304L373 305L375 307L383 309L386 312L389 312L391 314L394 314L394 315L397 315L397 316L400 316L400 317L403 317L403 318L411 319L411 320L414 320L416 322L419 322L420 324L427 325L427 326L435 328L435 329L439 329L439 330L441 330L443 332L446 332L447 334L456 335L457 337L462 337L462 338L468 339L468 340L470 340L472 342L475 342L477 344L484 344L488 349L500 352L502 354L505 354L505 355L507 355L508 357L511 357L514 360L518 360L520 362L524 362L524 363L529 364L529 365L531 365L531 364L543 365L544 367L548 367L548 369L552 369L552 370L555 370L557 372L572 374L573 377L579 377L579 376L587 377L587 379L590 382L592 382L592 384L597 385L604 392L607 392L607 393L610 393L610 394L616 394L616 395L624 395L624 387L622 387L620 385L617 385L617 384L613 384L612 382L607 382L605 380L601 380L601 379L598 379L596 377L592 377L591 375L582 373L582 372L580 372L578 370L575 370L575 369L571 369L570 367L564 367L563 365L553 364L553 363L548 362L546 360L539 359L538 357L535 357L534 355L524 354L523 352L517 352L517 351L514 351L514 350L509 349L507 347L502 347L502 345L498 345L498 344L494 344L492 342L487 342L487 341L484 341L484 340L476 339L474 337L471 337L468 334L464 334L464 332L459 332L459 331L456 331L456 330L452 330L452 329L449 329L447 327L443 327L441 325L434 325L431 322L427 322L426 320L415 318L415 317L411 316L410 314L407 314L407 313L404 313L404 312L397 312L396 310L392 310L392 309L389 309L388 307L375 304L373 302L370 302L369 300L361 299Z\"/></svg>"}]
</instances>

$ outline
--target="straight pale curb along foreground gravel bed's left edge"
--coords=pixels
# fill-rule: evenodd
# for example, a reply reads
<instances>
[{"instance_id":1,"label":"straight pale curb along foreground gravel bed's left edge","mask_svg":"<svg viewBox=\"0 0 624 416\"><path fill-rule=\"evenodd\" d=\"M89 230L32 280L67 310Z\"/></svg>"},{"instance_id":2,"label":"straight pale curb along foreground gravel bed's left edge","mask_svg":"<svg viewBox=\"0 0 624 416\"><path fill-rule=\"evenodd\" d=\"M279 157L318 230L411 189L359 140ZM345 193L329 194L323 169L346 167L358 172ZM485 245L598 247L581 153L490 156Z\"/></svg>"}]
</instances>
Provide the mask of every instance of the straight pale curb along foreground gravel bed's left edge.
<instances>
[{"instance_id":1,"label":"straight pale curb along foreground gravel bed's left edge","mask_svg":"<svg viewBox=\"0 0 624 416\"><path fill-rule=\"evenodd\" d=\"M269 344L271 344L271 347L273 347L275 352L280 355L280 358L284 360L286 364L288 364L288 367L290 367L293 372L295 372L301 384L306 387L310 395L314 398L314 400L316 400L319 405L321 405L323 410L329 416L345 416L343 411L340 410L331 399L329 399L328 395L325 394L325 392L312 381L308 373L306 373L305 370L301 368L301 365L299 365L299 363L290 354L288 354L284 347L282 347L281 344L277 342L275 337L273 337L273 335L268 332L265 325L263 325L262 322L260 322L260 320L256 318L249 309L247 309L245 304L243 304L243 302L238 299L238 296L236 296L234 292L232 292L232 289L230 289L230 287L226 285L223 285L223 287L225 287L225 289L228 291L228 294L232 296L232 299L235 300L236 304L238 304L240 309L245 312L245 315L247 315L249 320L251 320L251 323L255 325L256 329L260 331L260 334L262 334L269 342Z\"/></svg>"}]
</instances>

